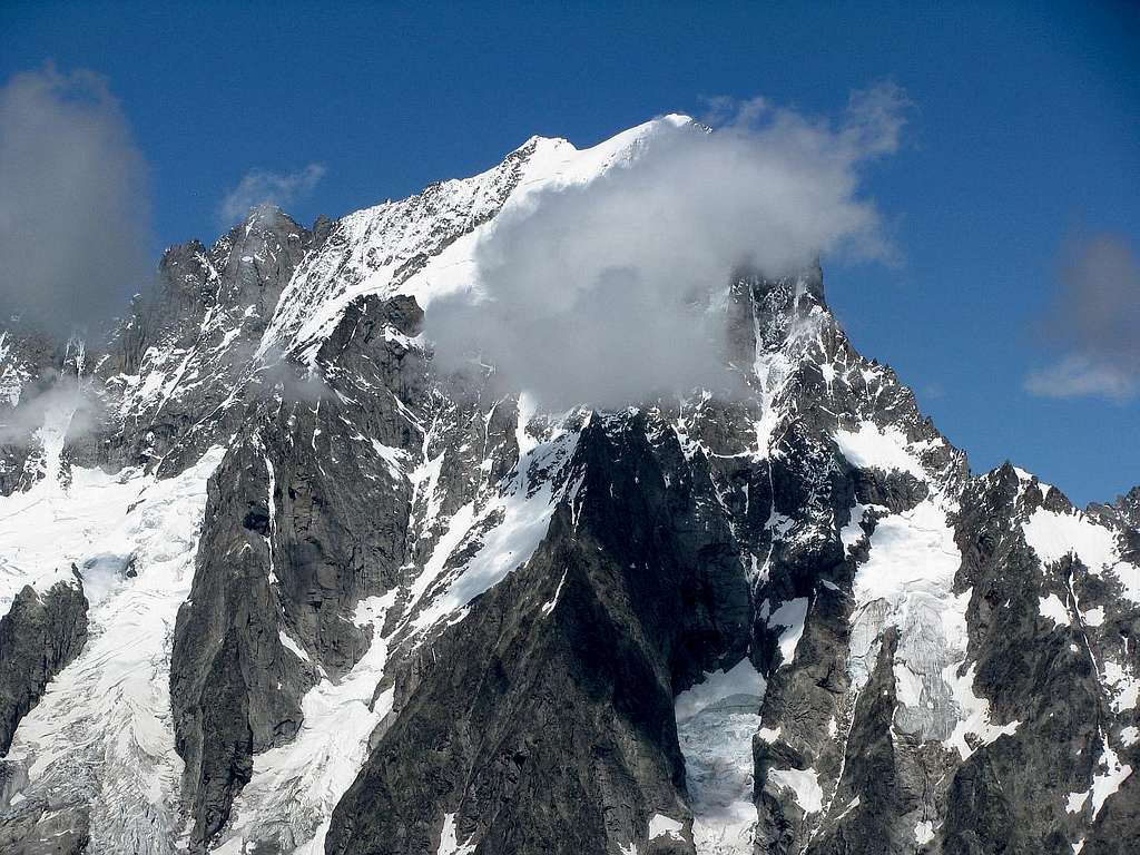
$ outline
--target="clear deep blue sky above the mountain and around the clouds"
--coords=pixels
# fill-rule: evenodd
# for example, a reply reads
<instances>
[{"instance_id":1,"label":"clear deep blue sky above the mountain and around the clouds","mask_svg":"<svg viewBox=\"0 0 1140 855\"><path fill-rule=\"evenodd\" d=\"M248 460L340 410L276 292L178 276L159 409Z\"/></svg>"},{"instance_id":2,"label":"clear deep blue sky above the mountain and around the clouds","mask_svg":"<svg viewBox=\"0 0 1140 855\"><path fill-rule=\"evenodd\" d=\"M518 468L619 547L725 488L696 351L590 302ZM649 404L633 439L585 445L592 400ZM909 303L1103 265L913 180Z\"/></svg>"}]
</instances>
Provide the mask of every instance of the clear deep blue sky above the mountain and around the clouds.
<instances>
[{"instance_id":1,"label":"clear deep blue sky above the mountain and around the clouds","mask_svg":"<svg viewBox=\"0 0 1140 855\"><path fill-rule=\"evenodd\" d=\"M293 206L311 220L481 171L532 133L585 146L720 95L836 115L893 80L915 108L868 189L904 263L826 270L856 345L975 470L1009 457L1081 503L1140 482L1135 399L1023 385L1058 356L1035 329L1065 241L1140 249L1137 5L188 6L0 5L0 81L47 59L109 79L162 244L212 239L253 168L324 164Z\"/></svg>"}]
</instances>

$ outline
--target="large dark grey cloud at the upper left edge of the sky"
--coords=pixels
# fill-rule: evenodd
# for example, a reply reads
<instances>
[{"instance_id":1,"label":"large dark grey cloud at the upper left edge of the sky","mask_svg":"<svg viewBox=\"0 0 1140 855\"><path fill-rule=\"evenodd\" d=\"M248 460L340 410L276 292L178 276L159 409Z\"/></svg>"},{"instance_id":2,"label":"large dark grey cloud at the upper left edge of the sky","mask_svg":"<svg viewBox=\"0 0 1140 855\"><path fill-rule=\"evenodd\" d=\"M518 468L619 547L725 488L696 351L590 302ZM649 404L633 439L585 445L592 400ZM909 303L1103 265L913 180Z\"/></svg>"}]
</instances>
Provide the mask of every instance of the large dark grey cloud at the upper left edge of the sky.
<instances>
[{"instance_id":1,"label":"large dark grey cloud at the upper left edge of the sky","mask_svg":"<svg viewBox=\"0 0 1140 855\"><path fill-rule=\"evenodd\" d=\"M149 275L147 168L107 81L48 65L0 89L0 323L107 320Z\"/></svg>"}]
</instances>

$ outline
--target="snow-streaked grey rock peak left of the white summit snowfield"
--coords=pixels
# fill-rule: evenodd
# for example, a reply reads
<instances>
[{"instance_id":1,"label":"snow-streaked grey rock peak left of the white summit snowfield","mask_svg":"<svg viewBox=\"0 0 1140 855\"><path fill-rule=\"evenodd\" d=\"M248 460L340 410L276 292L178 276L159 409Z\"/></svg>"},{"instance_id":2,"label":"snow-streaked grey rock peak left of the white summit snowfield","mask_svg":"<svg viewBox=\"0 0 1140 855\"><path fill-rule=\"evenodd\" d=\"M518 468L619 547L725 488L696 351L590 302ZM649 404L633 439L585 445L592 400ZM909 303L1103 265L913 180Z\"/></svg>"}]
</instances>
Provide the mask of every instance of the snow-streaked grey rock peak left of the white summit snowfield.
<instances>
[{"instance_id":1,"label":"snow-streaked grey rock peak left of the white summit snowfield","mask_svg":"<svg viewBox=\"0 0 1140 855\"><path fill-rule=\"evenodd\" d=\"M241 429L242 392L261 378L256 344L282 290L327 233L276 209L251 212L206 250L166 251L149 293L98 363L105 415L73 457L84 465L141 465L173 475Z\"/></svg>"}]
</instances>

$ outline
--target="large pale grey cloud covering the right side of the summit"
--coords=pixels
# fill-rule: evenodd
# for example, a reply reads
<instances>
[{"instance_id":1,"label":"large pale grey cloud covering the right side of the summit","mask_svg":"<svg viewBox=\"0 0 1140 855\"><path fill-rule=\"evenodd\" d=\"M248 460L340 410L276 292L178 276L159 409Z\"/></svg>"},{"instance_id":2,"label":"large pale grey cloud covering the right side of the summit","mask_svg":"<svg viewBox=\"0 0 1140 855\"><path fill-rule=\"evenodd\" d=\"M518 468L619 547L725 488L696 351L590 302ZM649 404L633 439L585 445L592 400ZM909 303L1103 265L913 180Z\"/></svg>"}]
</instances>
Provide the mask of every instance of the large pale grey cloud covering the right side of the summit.
<instances>
[{"instance_id":1,"label":"large pale grey cloud covering the right side of the summit","mask_svg":"<svg viewBox=\"0 0 1140 855\"><path fill-rule=\"evenodd\" d=\"M839 122L752 99L718 103L711 133L661 123L630 165L499 218L471 291L427 310L437 359L489 360L554 408L719 384L734 270L891 258L861 170L897 148L905 105L883 85Z\"/></svg>"}]
</instances>

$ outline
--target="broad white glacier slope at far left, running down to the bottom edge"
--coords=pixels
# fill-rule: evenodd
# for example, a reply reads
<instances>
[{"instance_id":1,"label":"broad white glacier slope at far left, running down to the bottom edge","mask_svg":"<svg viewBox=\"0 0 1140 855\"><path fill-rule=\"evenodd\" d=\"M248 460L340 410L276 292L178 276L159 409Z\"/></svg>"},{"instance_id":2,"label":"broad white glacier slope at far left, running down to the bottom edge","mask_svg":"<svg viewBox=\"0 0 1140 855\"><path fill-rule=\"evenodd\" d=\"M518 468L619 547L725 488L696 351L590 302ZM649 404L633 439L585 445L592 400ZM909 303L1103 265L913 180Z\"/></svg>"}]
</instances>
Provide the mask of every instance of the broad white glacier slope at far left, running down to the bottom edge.
<instances>
[{"instance_id":1,"label":"broad white glacier slope at far left, running down to the bottom edge","mask_svg":"<svg viewBox=\"0 0 1140 855\"><path fill-rule=\"evenodd\" d=\"M206 480L222 449L178 478L75 470L0 502L0 535L33 584L56 556L85 572L89 637L23 719L8 754L26 764L19 801L47 798L89 815L95 852L174 852L179 777L170 646L190 589ZM11 505L18 507L14 511ZM17 803L18 804L18 803Z\"/></svg>"}]
</instances>

